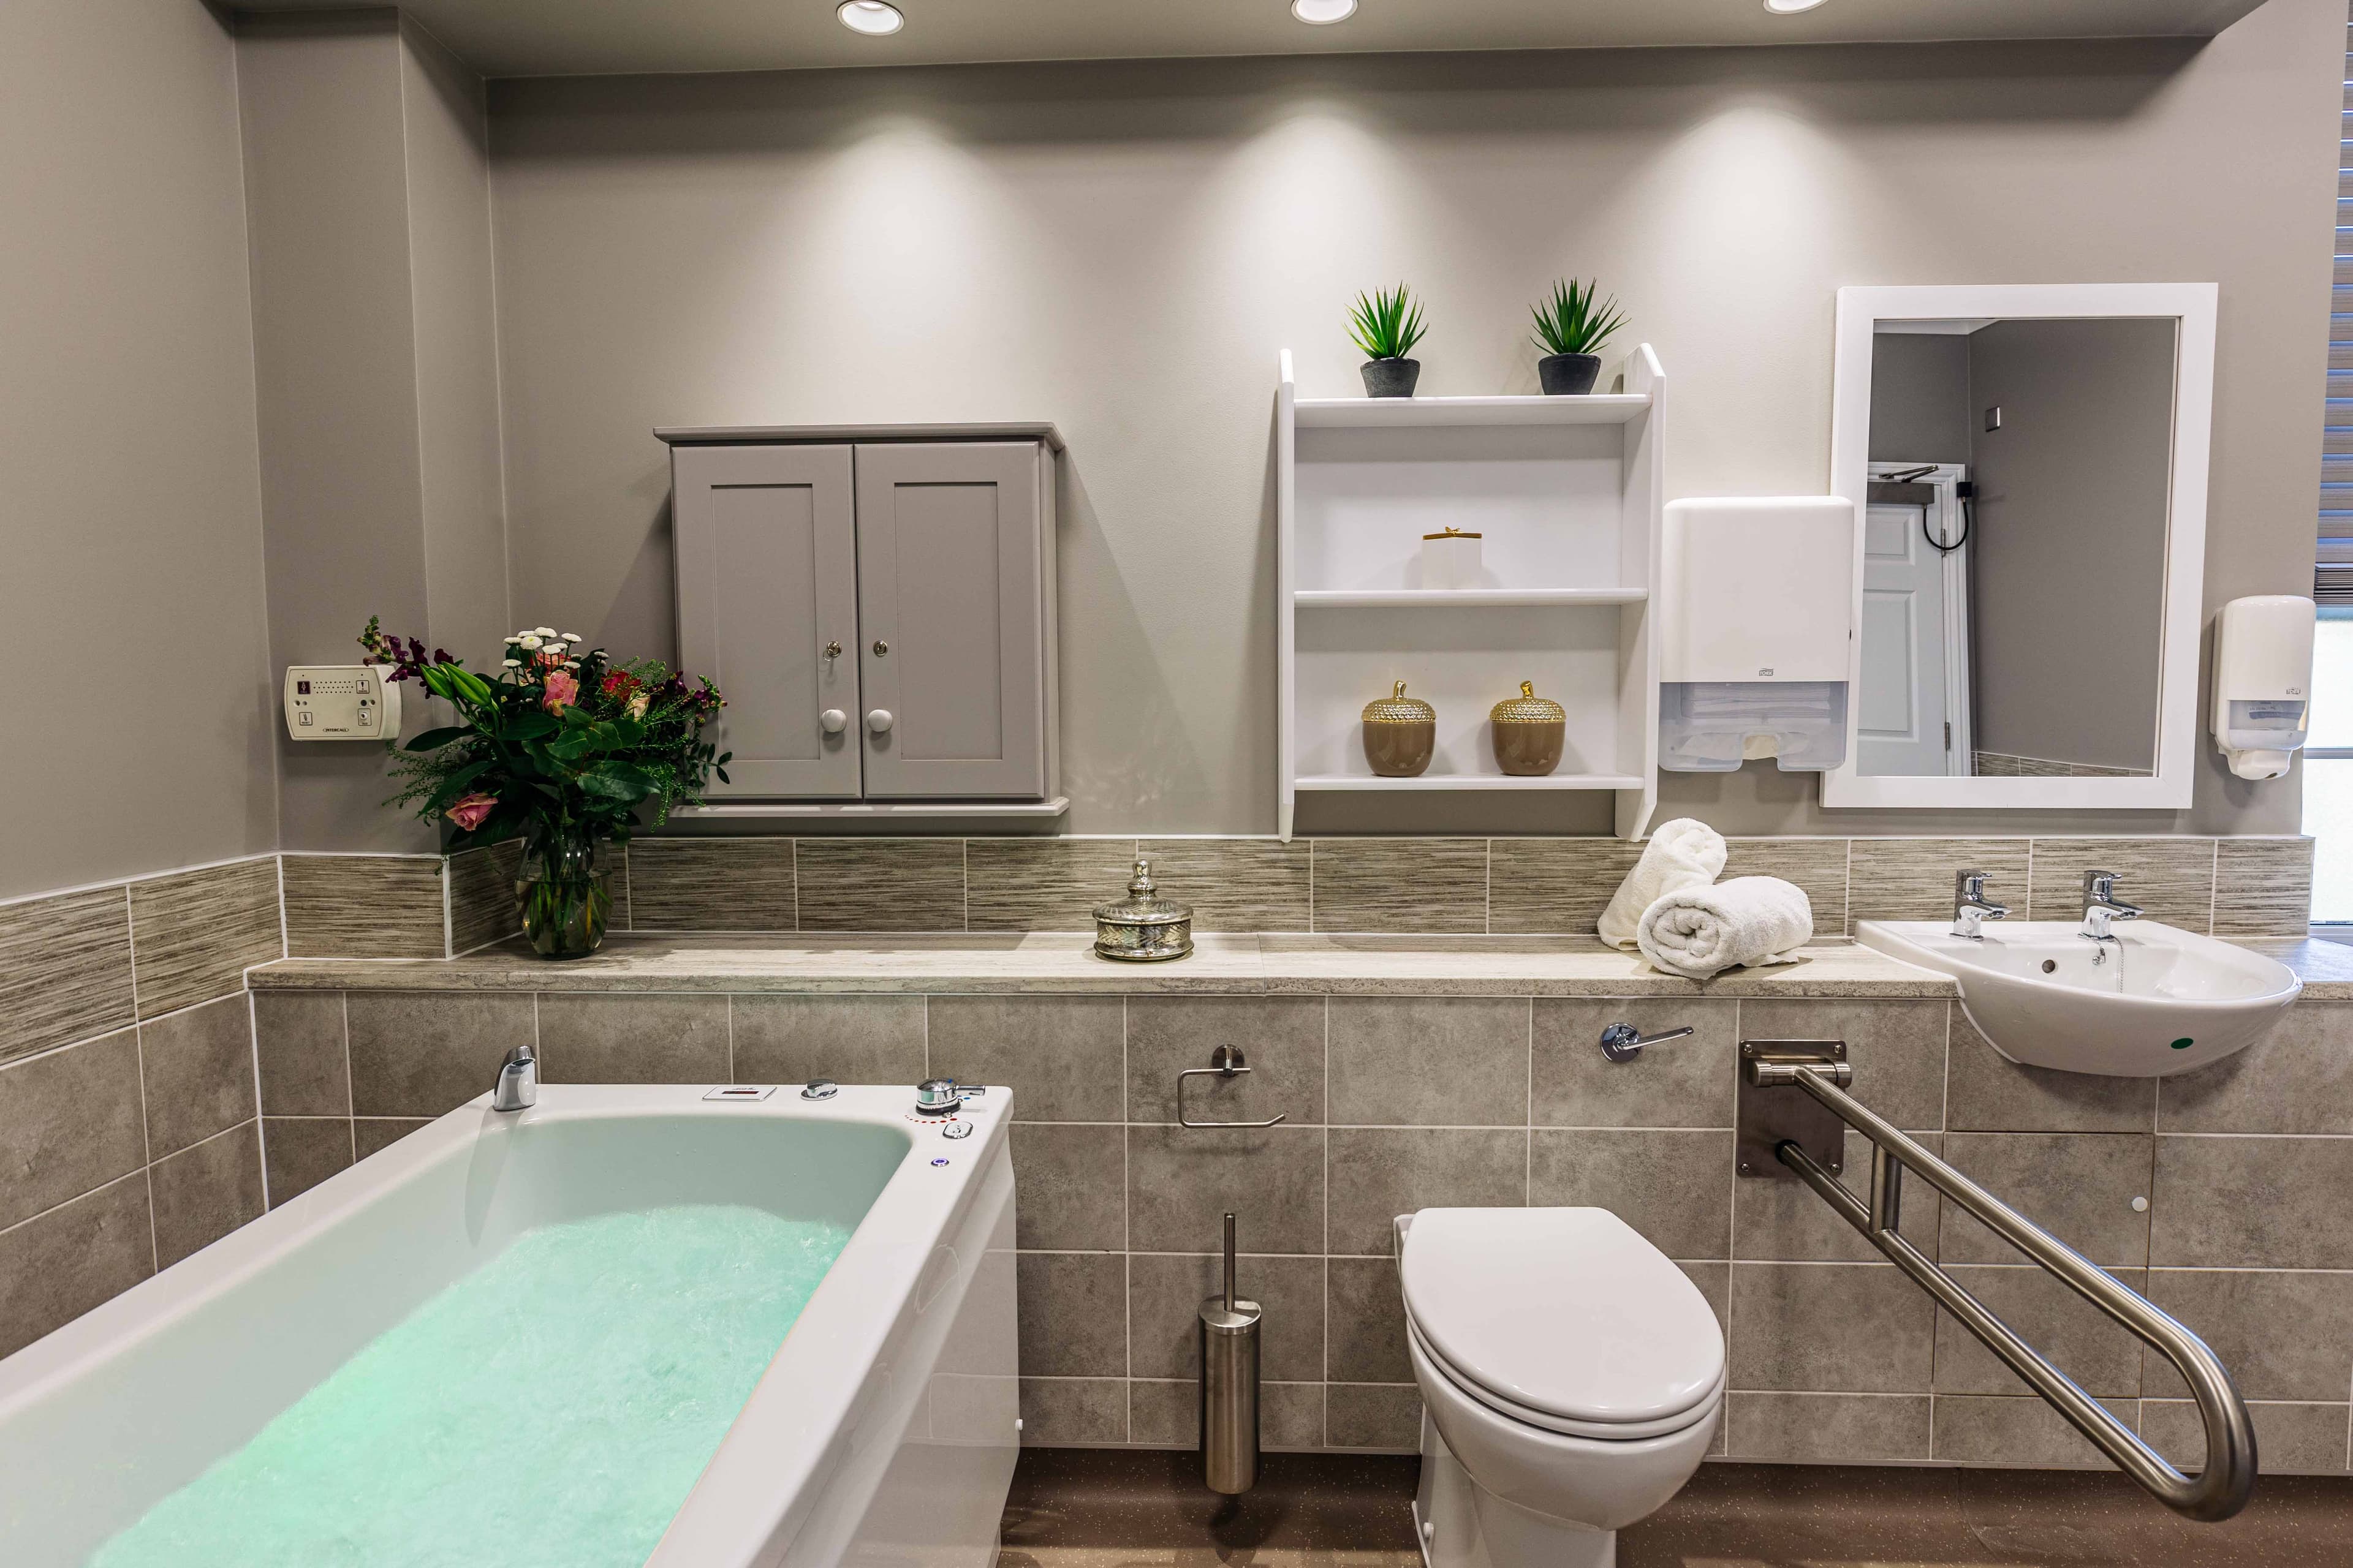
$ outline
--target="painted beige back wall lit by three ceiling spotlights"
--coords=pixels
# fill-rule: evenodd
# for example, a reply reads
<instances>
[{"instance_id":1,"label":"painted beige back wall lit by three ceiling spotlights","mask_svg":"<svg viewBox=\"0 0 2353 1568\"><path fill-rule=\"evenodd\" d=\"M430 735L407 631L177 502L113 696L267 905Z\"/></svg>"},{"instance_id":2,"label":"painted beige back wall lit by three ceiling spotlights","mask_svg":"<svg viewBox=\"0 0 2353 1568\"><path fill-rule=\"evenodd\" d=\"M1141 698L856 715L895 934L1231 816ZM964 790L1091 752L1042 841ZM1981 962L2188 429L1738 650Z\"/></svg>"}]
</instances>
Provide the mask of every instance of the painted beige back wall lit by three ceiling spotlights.
<instances>
[{"instance_id":1,"label":"painted beige back wall lit by three ceiling spotlights","mask_svg":"<svg viewBox=\"0 0 2353 1568\"><path fill-rule=\"evenodd\" d=\"M515 614L668 649L649 425L1054 418L1068 825L1264 832L1275 350L1304 393L1355 390L1341 306L1407 277L1424 390L1534 390L1525 301L1555 273L1659 346L1678 496L1826 484L1840 284L2219 280L2209 599L2297 590L2341 28L2271 0L2202 49L496 82ZM2233 790L2209 773L2191 823L2294 827L2294 785ZM1769 764L1666 797L1751 832L1927 820L1826 816ZM1466 811L1334 820L1605 827L1600 802Z\"/></svg>"}]
</instances>

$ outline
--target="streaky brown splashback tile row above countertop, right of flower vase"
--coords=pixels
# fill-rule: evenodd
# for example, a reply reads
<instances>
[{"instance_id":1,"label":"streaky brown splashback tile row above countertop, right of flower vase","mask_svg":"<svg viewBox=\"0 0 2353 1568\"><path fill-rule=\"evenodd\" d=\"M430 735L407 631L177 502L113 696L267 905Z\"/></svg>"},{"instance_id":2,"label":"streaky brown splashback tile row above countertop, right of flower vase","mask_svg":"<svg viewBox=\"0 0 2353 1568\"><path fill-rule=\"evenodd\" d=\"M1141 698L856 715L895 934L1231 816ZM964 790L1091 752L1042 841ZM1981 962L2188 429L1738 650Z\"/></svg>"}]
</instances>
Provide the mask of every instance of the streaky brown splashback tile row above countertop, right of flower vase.
<instances>
[{"instance_id":1,"label":"streaky brown splashback tile row above countertop, right of flower vase","mask_svg":"<svg viewBox=\"0 0 2353 1568\"><path fill-rule=\"evenodd\" d=\"M1085 931L1151 856L1200 931L1591 931L1640 844L1619 839L638 839L614 926L635 931ZM1732 839L1727 877L1805 889L1814 929L1932 919L1953 870L2019 917L2075 919L2082 872L2153 919L2304 936L2313 844L2275 839ZM301 952L301 947L296 947Z\"/></svg>"}]
</instances>

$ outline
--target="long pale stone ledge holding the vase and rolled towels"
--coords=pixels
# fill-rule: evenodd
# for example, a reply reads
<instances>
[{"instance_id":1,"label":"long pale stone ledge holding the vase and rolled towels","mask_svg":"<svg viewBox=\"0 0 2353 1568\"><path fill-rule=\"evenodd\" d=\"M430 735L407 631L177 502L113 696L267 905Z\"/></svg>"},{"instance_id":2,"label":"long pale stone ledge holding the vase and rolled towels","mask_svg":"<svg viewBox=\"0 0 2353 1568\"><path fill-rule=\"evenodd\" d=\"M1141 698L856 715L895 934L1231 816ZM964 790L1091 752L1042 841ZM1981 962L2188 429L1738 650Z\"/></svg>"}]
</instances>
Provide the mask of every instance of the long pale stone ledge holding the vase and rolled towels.
<instances>
[{"instance_id":1,"label":"long pale stone ledge holding the vase and rolled towels","mask_svg":"<svg viewBox=\"0 0 2353 1568\"><path fill-rule=\"evenodd\" d=\"M1412 997L1953 997L1953 983L1826 940L1795 964L1680 980L1591 936L1202 936L1115 964L1092 936L635 936L562 964L501 943L459 959L280 959L254 990L475 992L1205 992ZM2353 959L2353 950L2346 950ZM2353 978L2353 961L2346 964Z\"/></svg>"}]
</instances>

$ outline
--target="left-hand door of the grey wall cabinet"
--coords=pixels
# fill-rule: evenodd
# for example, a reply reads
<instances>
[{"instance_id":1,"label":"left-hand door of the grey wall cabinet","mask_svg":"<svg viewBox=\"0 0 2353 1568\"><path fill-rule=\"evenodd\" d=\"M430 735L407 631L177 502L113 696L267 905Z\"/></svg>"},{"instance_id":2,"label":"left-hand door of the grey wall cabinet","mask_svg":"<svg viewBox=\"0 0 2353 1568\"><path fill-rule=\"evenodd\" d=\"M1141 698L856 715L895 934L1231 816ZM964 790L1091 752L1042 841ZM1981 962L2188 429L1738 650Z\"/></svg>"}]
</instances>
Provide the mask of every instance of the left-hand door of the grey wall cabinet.
<instances>
[{"instance_id":1,"label":"left-hand door of the grey wall cabinet","mask_svg":"<svg viewBox=\"0 0 2353 1568\"><path fill-rule=\"evenodd\" d=\"M849 473L849 447L671 454L678 654L727 698L706 736L734 752L713 797L859 792Z\"/></svg>"}]
</instances>

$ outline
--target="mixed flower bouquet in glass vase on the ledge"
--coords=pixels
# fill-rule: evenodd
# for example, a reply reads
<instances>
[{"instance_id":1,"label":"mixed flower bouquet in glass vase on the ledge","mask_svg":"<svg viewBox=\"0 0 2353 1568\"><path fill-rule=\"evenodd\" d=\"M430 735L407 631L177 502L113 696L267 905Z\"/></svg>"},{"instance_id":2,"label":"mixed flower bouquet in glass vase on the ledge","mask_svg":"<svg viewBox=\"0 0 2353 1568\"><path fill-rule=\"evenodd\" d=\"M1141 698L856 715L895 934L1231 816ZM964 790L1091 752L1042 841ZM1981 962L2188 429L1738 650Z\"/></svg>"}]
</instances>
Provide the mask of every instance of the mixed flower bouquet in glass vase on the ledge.
<instances>
[{"instance_id":1,"label":"mixed flower bouquet in glass vase on the ledge","mask_svg":"<svg viewBox=\"0 0 2353 1568\"><path fill-rule=\"evenodd\" d=\"M426 823L449 823L449 849L522 839L515 905L532 950L576 959L605 940L612 891L598 856L626 842L638 809L659 827L701 799L727 755L701 738L725 705L706 679L673 675L654 658L614 661L574 635L541 625L506 639L494 677L414 637L386 637L376 618L360 632L369 663L416 679L459 722L393 743L400 795Z\"/></svg>"}]
</instances>

